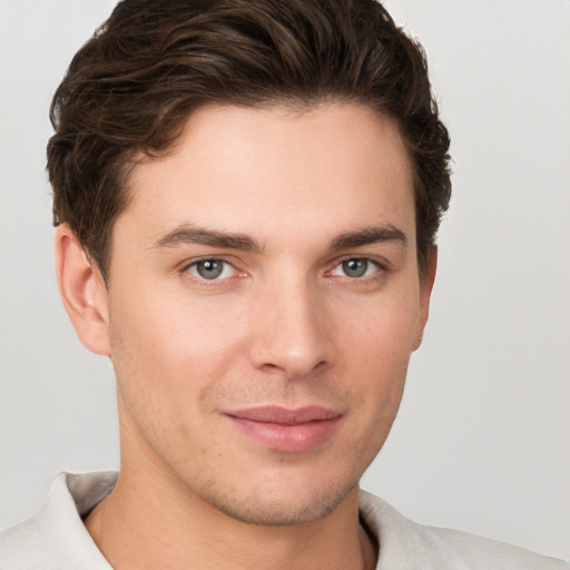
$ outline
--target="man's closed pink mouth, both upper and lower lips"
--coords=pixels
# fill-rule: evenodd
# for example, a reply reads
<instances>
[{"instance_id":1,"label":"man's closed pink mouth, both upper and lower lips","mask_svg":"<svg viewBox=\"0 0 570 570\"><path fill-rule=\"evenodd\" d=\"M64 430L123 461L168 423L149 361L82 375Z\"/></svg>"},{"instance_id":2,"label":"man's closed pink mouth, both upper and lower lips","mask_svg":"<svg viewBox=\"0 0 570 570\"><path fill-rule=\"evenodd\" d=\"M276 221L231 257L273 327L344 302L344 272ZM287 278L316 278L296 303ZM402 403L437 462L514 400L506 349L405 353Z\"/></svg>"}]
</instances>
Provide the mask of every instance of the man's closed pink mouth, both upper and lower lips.
<instances>
[{"instance_id":1,"label":"man's closed pink mouth, both upper and lower lips","mask_svg":"<svg viewBox=\"0 0 570 570\"><path fill-rule=\"evenodd\" d=\"M247 438L275 451L299 453L315 449L336 432L342 414L322 406L287 410L262 406L226 412L226 417Z\"/></svg>"}]
</instances>

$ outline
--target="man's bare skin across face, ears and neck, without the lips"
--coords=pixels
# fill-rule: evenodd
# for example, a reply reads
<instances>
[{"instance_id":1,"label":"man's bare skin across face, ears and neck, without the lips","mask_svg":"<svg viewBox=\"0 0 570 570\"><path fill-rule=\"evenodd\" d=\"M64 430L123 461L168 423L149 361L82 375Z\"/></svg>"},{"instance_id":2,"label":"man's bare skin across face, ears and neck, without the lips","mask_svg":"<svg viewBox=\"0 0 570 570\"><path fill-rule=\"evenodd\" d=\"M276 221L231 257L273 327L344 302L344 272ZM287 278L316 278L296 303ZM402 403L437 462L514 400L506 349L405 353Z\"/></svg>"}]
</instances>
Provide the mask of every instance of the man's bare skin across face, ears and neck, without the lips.
<instances>
[{"instance_id":1,"label":"man's bare skin across face, ears and neck, without the lips","mask_svg":"<svg viewBox=\"0 0 570 570\"><path fill-rule=\"evenodd\" d=\"M397 127L360 105L208 106L129 184L107 287L67 226L56 238L66 308L117 375L121 471L86 521L99 549L116 569L374 568L357 485L435 272L433 254L419 275ZM261 405L340 420L308 450L276 450L228 417Z\"/></svg>"}]
</instances>

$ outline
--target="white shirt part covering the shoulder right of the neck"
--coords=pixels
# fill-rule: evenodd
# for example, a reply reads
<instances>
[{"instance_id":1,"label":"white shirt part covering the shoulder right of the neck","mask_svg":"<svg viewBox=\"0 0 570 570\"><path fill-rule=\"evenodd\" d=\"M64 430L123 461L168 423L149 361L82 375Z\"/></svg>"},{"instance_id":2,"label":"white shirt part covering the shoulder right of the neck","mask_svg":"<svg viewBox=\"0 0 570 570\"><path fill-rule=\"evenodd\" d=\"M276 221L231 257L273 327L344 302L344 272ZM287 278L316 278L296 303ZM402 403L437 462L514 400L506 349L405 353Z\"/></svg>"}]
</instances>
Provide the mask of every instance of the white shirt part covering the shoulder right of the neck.
<instances>
[{"instance_id":1,"label":"white shirt part covering the shoulder right of the neck","mask_svg":"<svg viewBox=\"0 0 570 570\"><path fill-rule=\"evenodd\" d=\"M361 491L361 514L380 543L379 570L570 570L570 564L466 532L406 519Z\"/></svg>"}]
</instances>

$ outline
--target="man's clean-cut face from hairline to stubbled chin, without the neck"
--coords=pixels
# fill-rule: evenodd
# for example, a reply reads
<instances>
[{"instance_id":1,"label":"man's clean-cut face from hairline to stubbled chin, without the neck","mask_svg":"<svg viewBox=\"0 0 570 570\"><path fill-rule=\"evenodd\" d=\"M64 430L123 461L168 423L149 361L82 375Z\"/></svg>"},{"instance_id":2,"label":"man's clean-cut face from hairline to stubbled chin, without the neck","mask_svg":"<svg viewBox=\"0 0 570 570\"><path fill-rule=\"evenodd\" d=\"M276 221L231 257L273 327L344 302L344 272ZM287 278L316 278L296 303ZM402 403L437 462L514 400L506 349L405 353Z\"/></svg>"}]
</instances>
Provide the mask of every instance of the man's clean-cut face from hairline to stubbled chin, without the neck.
<instances>
[{"instance_id":1,"label":"man's clean-cut face from hairline to stubbled chin, without the neck","mask_svg":"<svg viewBox=\"0 0 570 570\"><path fill-rule=\"evenodd\" d=\"M106 299L124 468L249 522L331 512L387 435L426 318L395 125L205 107L129 184Z\"/></svg>"}]
</instances>

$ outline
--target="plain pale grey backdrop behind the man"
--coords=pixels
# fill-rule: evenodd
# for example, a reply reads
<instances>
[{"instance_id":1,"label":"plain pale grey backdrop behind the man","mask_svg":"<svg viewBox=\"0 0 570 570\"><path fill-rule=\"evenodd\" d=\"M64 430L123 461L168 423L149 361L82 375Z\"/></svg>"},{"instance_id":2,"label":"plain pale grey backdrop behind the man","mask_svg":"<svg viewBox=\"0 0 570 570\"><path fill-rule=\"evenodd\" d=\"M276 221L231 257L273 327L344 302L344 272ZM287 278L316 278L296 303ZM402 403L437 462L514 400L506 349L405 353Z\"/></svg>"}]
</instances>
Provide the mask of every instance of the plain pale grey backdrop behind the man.
<instances>
[{"instance_id":1,"label":"plain pale grey backdrop behind the man","mask_svg":"<svg viewBox=\"0 0 570 570\"><path fill-rule=\"evenodd\" d=\"M53 278L51 94L111 0L0 0L0 527L118 466L112 371ZM454 198L424 345L363 487L420 522L570 558L570 3L390 0L421 38Z\"/></svg>"}]
</instances>

